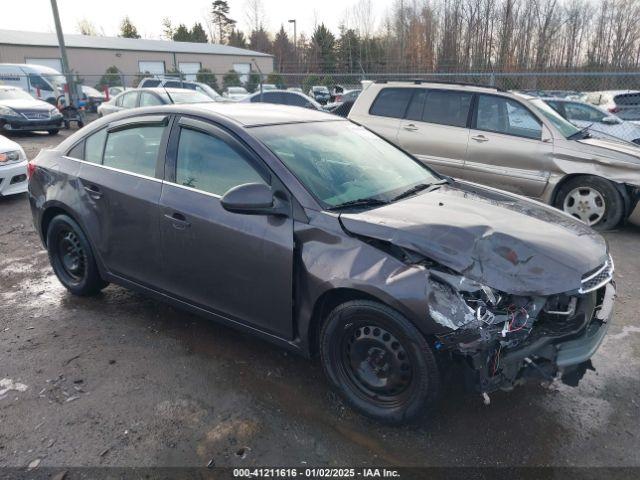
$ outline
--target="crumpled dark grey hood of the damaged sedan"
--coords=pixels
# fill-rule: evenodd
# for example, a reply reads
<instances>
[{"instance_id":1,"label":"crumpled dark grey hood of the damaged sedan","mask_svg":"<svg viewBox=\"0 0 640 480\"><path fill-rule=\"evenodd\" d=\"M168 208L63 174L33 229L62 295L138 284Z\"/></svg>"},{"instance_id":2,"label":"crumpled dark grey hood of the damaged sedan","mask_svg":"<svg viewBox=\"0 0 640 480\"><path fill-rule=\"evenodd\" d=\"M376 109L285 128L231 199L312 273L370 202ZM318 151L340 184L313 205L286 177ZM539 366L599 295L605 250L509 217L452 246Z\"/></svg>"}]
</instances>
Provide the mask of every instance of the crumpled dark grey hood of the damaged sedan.
<instances>
[{"instance_id":1,"label":"crumpled dark grey hood of the damaged sedan","mask_svg":"<svg viewBox=\"0 0 640 480\"><path fill-rule=\"evenodd\" d=\"M605 240L587 225L538 202L463 182L340 220L352 234L418 252L516 295L576 290L607 258Z\"/></svg>"}]
</instances>

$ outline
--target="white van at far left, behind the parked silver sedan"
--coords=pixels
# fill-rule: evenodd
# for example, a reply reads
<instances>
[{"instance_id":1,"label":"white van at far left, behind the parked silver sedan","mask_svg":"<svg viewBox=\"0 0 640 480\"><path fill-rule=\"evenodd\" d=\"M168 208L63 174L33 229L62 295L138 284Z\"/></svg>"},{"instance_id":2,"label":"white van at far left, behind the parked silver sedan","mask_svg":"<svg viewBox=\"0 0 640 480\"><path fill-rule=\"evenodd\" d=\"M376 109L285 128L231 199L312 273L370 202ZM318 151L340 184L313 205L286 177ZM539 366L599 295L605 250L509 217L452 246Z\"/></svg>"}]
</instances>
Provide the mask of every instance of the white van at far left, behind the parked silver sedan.
<instances>
[{"instance_id":1,"label":"white van at far left, behind the parked silver sedan","mask_svg":"<svg viewBox=\"0 0 640 480\"><path fill-rule=\"evenodd\" d=\"M64 93L66 80L53 68L28 63L0 63L0 84L17 87L52 105Z\"/></svg>"}]
</instances>

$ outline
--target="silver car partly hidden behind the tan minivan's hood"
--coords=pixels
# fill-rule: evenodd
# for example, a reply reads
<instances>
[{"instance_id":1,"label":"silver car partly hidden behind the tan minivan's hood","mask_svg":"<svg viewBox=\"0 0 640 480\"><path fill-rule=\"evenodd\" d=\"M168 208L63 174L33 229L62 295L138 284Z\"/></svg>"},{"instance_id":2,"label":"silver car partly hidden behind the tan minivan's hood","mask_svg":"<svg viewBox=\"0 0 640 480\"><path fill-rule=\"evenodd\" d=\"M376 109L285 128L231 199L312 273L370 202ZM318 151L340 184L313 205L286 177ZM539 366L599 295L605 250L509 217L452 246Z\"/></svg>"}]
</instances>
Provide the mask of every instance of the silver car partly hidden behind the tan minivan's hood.
<instances>
[{"instance_id":1,"label":"silver car partly hidden behind the tan minivan's hood","mask_svg":"<svg viewBox=\"0 0 640 480\"><path fill-rule=\"evenodd\" d=\"M577 127L588 128L595 138L617 138L640 145L640 125L595 105L563 98L545 98L545 103Z\"/></svg>"}]
</instances>

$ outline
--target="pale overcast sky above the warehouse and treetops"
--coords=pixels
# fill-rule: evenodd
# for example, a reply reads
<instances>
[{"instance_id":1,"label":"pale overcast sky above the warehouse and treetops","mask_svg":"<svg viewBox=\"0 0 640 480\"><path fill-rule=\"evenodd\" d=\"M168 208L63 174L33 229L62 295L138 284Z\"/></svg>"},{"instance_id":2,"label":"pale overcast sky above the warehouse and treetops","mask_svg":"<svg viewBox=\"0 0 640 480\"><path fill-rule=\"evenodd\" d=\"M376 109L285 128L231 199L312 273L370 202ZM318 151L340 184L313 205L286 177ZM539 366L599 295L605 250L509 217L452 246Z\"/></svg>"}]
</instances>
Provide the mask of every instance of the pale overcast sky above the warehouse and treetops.
<instances>
[{"instance_id":1,"label":"pale overcast sky above the warehouse and treetops","mask_svg":"<svg viewBox=\"0 0 640 480\"><path fill-rule=\"evenodd\" d=\"M242 30L248 30L244 10L246 0L228 0L231 18ZM384 15L393 0L373 0L376 21ZM54 32L50 0L3 0L0 28ZM295 18L298 33L310 34L314 25L324 22L337 32L345 11L357 0L263 0L267 27L275 31L284 24L293 35L287 20ZM10 4L10 6L9 6ZM143 38L159 38L162 19L169 17L174 25L188 26L200 21L210 10L210 0L58 0L58 8L65 33L78 33L78 22L87 19L99 32L115 36L125 15L131 18ZM205 27L206 28L206 27Z\"/></svg>"}]
</instances>

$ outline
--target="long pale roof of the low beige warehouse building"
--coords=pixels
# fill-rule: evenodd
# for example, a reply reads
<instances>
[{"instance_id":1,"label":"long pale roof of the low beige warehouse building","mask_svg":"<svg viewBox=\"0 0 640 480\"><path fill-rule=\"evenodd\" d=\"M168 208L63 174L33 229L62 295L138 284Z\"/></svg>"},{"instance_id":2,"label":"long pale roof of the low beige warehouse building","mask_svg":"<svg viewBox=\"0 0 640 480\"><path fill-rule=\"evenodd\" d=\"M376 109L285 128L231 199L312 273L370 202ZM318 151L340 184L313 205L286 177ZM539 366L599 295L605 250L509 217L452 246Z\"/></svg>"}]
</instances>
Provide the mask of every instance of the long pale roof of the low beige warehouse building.
<instances>
[{"instance_id":1,"label":"long pale roof of the low beige warehouse building","mask_svg":"<svg viewBox=\"0 0 640 480\"><path fill-rule=\"evenodd\" d=\"M90 35L65 34L64 42L68 48L200 53L209 55L237 55L251 57L272 56L266 53L254 52L252 50L245 50L243 48L230 47L228 45L219 45L215 43L173 42L166 40L147 40L143 38L94 37ZM0 45L57 47L58 37L55 33L0 30Z\"/></svg>"}]
</instances>

